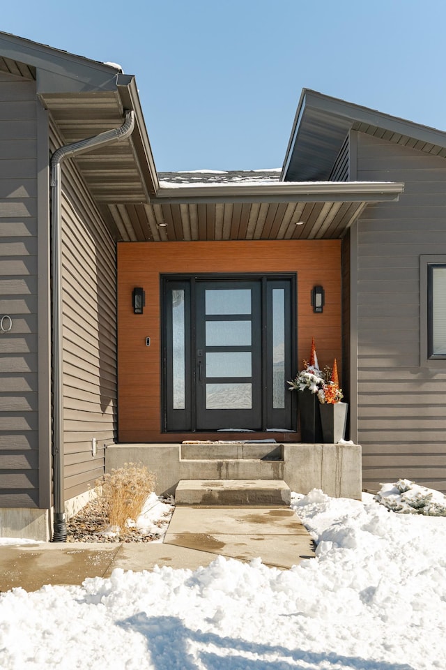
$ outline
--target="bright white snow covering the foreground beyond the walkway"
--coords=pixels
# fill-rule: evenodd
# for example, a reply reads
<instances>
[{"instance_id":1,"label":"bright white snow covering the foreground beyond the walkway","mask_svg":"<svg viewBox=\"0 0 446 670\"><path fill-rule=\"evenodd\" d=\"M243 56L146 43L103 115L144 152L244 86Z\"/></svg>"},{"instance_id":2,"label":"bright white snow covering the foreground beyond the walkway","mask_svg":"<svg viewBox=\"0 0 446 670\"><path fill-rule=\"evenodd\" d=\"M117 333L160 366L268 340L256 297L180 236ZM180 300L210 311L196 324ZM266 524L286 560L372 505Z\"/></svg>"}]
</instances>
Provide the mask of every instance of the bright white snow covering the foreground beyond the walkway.
<instances>
[{"instance_id":1,"label":"bright white snow covering the foreground beyond the walkway","mask_svg":"<svg viewBox=\"0 0 446 670\"><path fill-rule=\"evenodd\" d=\"M217 558L0 595L1 669L444 670L446 517L292 506L318 546L289 571Z\"/></svg>"}]
</instances>

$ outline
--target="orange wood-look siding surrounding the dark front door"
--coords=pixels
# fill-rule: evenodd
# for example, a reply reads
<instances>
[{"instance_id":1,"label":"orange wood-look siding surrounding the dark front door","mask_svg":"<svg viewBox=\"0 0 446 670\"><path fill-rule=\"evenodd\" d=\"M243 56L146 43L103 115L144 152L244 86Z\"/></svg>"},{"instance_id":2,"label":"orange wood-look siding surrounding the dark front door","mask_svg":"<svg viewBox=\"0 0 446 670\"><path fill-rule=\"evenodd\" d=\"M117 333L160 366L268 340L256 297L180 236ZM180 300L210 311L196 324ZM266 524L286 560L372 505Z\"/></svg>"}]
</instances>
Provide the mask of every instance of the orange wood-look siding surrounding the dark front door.
<instances>
[{"instance_id":1,"label":"orange wood-look siding surrounding the dark front door","mask_svg":"<svg viewBox=\"0 0 446 670\"><path fill-rule=\"evenodd\" d=\"M341 241L204 241L118 244L118 431L120 442L172 442L189 435L161 433L160 275L206 272L295 272L298 277L298 364L312 336L321 366L341 370ZM310 292L325 288L314 314ZM132 310L132 290L146 291L144 314ZM146 347L146 337L151 338ZM200 435L201 437L204 435Z\"/></svg>"}]
</instances>

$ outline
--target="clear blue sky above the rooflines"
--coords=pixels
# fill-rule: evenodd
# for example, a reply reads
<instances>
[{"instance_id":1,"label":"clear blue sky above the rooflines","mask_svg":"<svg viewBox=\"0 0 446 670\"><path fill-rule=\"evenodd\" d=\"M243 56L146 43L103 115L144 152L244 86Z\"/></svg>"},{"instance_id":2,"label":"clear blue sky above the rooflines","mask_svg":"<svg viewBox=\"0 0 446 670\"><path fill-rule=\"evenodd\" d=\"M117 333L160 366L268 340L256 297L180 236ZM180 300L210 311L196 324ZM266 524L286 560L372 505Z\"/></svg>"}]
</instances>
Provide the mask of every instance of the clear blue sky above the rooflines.
<instances>
[{"instance_id":1,"label":"clear blue sky above the rooflines","mask_svg":"<svg viewBox=\"0 0 446 670\"><path fill-rule=\"evenodd\" d=\"M0 29L136 75L157 170L282 165L303 87L446 130L444 0L22 0Z\"/></svg>"}]
</instances>

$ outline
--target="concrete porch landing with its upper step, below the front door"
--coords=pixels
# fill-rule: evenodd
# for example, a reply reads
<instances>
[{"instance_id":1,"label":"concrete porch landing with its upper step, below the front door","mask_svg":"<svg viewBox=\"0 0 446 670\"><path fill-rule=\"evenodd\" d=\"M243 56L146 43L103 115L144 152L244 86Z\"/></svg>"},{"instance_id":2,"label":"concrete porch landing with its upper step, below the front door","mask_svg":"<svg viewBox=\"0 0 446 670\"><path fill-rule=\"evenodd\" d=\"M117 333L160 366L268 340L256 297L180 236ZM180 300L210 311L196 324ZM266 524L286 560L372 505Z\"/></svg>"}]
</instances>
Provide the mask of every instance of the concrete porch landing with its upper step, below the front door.
<instances>
[{"instance_id":1,"label":"concrete porch landing with its upper step, below the front door","mask_svg":"<svg viewBox=\"0 0 446 670\"><path fill-rule=\"evenodd\" d=\"M156 476L158 495L172 495L181 479L283 479L291 491L322 489L332 498L361 500L359 445L302 444L287 442L290 433L274 436L281 443L109 445L105 449L105 472L122 468L124 463L144 463ZM226 437L231 440L234 435ZM256 470L253 459L257 461Z\"/></svg>"}]
</instances>

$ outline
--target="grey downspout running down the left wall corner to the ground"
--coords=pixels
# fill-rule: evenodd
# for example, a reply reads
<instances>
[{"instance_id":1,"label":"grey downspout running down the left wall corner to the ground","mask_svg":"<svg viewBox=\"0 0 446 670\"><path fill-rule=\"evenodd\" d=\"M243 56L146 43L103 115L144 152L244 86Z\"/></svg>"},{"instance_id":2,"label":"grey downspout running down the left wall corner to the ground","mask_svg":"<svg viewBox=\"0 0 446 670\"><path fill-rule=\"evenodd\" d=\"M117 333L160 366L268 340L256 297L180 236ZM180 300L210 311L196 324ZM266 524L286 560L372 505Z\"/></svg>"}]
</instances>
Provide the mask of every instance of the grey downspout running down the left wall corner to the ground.
<instances>
[{"instance_id":1,"label":"grey downspout running down the left wall corner to the ground","mask_svg":"<svg viewBox=\"0 0 446 670\"><path fill-rule=\"evenodd\" d=\"M53 542L66 542L66 514L63 496L63 371L62 371L62 252L61 252L61 163L102 144L124 140L132 134L134 112L125 112L125 122L119 128L95 137L60 147L51 158L51 239L52 239L52 327L53 327Z\"/></svg>"}]
</instances>

